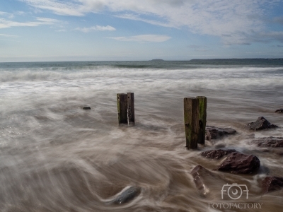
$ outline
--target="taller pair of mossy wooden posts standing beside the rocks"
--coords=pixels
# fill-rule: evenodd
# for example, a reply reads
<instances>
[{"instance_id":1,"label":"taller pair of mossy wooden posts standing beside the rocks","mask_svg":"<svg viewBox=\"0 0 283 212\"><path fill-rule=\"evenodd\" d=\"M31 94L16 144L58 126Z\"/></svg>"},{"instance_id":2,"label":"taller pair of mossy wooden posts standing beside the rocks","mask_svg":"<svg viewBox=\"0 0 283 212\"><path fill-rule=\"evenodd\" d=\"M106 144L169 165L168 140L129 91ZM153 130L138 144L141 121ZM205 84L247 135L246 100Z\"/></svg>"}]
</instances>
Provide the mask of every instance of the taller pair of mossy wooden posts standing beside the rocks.
<instances>
[{"instance_id":1,"label":"taller pair of mossy wooden posts standing beside the rocks","mask_svg":"<svg viewBox=\"0 0 283 212\"><path fill-rule=\"evenodd\" d=\"M184 98L184 121L186 147L195 149L197 143L204 145L207 122L207 98Z\"/></svg>"}]
</instances>

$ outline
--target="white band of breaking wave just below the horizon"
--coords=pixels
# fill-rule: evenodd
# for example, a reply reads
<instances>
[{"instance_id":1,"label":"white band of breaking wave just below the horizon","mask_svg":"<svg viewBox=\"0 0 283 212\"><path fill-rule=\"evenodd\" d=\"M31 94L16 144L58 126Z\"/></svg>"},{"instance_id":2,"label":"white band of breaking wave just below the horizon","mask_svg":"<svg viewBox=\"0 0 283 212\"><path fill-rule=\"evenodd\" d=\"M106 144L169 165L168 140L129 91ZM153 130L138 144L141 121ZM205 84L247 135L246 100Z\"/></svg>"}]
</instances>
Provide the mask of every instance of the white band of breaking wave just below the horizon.
<instances>
[{"instance_id":1,"label":"white band of breaking wave just below the horizon","mask_svg":"<svg viewBox=\"0 0 283 212\"><path fill-rule=\"evenodd\" d=\"M0 82L60 81L83 78L127 78L127 80L255 79L283 77L282 67L217 67L197 69L129 69L123 66L71 66L0 69Z\"/></svg>"}]
</instances>

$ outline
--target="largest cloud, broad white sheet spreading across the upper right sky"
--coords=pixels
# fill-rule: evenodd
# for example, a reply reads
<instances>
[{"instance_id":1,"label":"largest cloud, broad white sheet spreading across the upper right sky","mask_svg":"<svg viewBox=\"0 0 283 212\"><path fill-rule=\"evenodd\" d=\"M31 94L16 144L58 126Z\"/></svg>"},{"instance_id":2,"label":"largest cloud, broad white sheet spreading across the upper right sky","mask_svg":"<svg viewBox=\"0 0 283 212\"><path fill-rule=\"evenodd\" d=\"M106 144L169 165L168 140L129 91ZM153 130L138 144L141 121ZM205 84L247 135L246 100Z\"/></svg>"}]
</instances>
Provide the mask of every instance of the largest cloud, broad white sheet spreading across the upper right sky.
<instances>
[{"instance_id":1,"label":"largest cloud, broad white sheet spreading across the upper right sky","mask_svg":"<svg viewBox=\"0 0 283 212\"><path fill-rule=\"evenodd\" d=\"M144 21L192 33L221 37L226 45L248 44L267 30L263 20L280 0L21 0L64 16L107 11L113 16ZM256 18L255 17L261 17ZM281 21L277 20L277 21ZM227 36L229 35L229 36Z\"/></svg>"}]
</instances>

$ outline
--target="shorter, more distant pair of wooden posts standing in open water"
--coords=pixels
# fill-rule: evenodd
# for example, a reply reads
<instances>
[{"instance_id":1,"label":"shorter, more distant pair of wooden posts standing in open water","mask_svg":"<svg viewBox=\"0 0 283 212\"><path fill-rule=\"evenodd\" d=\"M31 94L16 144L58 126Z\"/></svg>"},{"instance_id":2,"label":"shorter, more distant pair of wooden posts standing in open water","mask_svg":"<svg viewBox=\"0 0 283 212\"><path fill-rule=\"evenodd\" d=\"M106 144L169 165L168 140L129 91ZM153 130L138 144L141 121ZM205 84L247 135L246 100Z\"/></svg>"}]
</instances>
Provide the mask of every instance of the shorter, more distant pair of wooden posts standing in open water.
<instances>
[{"instance_id":1,"label":"shorter, more distant pair of wooden posts standing in open water","mask_svg":"<svg viewBox=\"0 0 283 212\"><path fill-rule=\"evenodd\" d=\"M134 93L117 93L119 124L134 124Z\"/></svg>"}]
</instances>

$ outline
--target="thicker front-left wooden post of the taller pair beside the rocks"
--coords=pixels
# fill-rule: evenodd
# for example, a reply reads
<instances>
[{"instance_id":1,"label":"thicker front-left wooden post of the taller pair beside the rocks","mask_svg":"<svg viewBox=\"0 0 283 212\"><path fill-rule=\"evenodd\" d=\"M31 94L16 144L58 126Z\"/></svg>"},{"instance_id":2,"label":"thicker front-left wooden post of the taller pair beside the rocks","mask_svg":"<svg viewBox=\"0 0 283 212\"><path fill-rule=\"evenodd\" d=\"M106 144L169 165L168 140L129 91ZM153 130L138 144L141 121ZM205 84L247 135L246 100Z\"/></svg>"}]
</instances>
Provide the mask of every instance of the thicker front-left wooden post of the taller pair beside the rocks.
<instances>
[{"instance_id":1,"label":"thicker front-left wooden post of the taller pair beside the rocks","mask_svg":"<svg viewBox=\"0 0 283 212\"><path fill-rule=\"evenodd\" d=\"M187 148L197 148L200 131L197 98L184 98L185 137Z\"/></svg>"}]
</instances>

